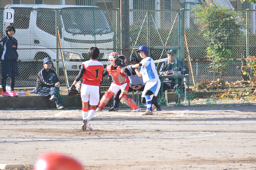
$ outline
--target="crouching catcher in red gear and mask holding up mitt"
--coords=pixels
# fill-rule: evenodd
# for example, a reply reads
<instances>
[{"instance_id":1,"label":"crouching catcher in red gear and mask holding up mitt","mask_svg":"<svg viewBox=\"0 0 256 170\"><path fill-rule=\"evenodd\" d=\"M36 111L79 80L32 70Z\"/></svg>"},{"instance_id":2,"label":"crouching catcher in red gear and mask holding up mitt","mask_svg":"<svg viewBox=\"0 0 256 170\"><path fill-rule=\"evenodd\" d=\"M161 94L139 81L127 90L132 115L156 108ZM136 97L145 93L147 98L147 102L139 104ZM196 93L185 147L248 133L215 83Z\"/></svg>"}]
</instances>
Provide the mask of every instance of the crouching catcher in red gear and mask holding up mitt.
<instances>
[{"instance_id":1,"label":"crouching catcher in red gear and mask holding up mitt","mask_svg":"<svg viewBox=\"0 0 256 170\"><path fill-rule=\"evenodd\" d=\"M118 53L112 52L108 57L108 61L111 62L109 66L107 66L106 70L103 72L103 76L109 74L112 77L113 82L111 83L108 91L105 92L104 96L102 96L96 111L102 111L102 109L108 104L108 101L112 98L113 94L116 94L121 89L121 94L119 99L129 107L132 107L132 111L141 111L140 106L134 102L131 98L128 98L128 89L129 89L129 78L126 76L131 75L130 71L124 67L120 67L116 65L115 60L119 57ZM124 56L122 56L124 57Z\"/></svg>"}]
</instances>

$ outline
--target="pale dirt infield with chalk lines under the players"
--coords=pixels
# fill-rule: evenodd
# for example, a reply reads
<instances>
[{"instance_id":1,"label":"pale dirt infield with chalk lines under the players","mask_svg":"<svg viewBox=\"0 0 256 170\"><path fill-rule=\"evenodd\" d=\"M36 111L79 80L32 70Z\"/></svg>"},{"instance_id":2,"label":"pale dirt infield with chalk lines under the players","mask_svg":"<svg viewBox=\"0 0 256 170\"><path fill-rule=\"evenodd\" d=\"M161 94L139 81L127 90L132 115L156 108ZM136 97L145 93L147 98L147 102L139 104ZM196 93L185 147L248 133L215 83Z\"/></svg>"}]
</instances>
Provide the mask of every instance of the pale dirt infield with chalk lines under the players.
<instances>
[{"instance_id":1,"label":"pale dirt infield with chalk lines under the players","mask_svg":"<svg viewBox=\"0 0 256 170\"><path fill-rule=\"evenodd\" d=\"M255 106L162 107L149 116L105 110L89 121L92 132L80 130L78 109L1 110L0 163L32 170L54 151L88 170L256 170Z\"/></svg>"}]
</instances>

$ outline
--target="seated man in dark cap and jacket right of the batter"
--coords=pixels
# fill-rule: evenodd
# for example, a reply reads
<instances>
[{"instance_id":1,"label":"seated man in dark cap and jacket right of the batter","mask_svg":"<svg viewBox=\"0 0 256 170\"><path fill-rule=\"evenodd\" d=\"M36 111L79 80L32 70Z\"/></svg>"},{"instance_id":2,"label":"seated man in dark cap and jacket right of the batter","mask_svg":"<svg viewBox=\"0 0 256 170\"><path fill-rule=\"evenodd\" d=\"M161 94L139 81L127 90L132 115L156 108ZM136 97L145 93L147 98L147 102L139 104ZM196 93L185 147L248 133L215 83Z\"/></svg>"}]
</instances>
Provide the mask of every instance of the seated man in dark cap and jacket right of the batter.
<instances>
[{"instance_id":1,"label":"seated man in dark cap and jacket right of the batter","mask_svg":"<svg viewBox=\"0 0 256 170\"><path fill-rule=\"evenodd\" d=\"M168 61L162 63L159 71L160 76L174 75L174 74L188 74L188 67L184 65L182 61L176 59L177 51L175 49L169 49L167 51ZM166 90L178 90L181 89L183 94L185 92L183 78L164 78L164 84L162 84L163 92ZM180 93L177 93L176 104L180 103Z\"/></svg>"}]
</instances>

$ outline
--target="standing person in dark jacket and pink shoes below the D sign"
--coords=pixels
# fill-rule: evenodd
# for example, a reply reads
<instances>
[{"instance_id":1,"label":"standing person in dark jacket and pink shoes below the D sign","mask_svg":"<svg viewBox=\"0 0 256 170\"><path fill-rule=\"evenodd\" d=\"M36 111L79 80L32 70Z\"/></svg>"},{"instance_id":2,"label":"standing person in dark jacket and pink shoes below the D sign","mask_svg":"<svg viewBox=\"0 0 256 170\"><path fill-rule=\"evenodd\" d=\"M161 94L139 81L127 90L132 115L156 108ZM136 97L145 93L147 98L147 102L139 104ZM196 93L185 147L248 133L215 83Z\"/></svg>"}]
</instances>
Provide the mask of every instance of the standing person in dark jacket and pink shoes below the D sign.
<instances>
[{"instance_id":1,"label":"standing person in dark jacket and pink shoes below the D sign","mask_svg":"<svg viewBox=\"0 0 256 170\"><path fill-rule=\"evenodd\" d=\"M12 37L15 33L15 28L13 26L8 26L5 29L6 36L0 40L0 55L2 56L2 88L3 88L3 95L5 97L9 96L18 96L14 92L14 85L15 85L15 77L19 76L19 69L18 69L18 53L17 47L18 42L17 40ZM10 86L11 92L10 94L6 92L6 80L10 77Z\"/></svg>"}]
</instances>

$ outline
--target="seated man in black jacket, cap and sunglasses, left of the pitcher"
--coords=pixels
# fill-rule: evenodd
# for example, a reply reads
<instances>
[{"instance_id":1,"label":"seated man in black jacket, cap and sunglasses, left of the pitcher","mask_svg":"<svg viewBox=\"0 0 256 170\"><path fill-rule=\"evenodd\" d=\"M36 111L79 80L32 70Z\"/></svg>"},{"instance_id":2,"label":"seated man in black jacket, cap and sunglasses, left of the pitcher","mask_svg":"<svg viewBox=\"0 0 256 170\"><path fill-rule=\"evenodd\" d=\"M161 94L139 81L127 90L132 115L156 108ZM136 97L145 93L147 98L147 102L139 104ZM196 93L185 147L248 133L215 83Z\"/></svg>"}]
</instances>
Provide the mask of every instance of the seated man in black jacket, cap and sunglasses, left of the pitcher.
<instances>
[{"instance_id":1,"label":"seated man in black jacket, cap and sunglasses, left of the pitcher","mask_svg":"<svg viewBox=\"0 0 256 170\"><path fill-rule=\"evenodd\" d=\"M50 58L44 59L44 68L37 74L36 90L40 96L51 96L49 99L56 103L57 109L63 109L62 97L60 96L60 78L52 69Z\"/></svg>"}]
</instances>

